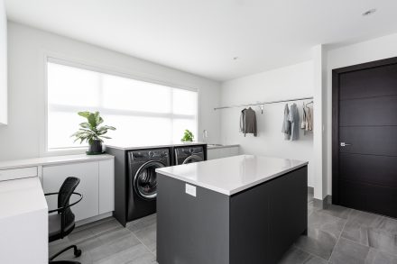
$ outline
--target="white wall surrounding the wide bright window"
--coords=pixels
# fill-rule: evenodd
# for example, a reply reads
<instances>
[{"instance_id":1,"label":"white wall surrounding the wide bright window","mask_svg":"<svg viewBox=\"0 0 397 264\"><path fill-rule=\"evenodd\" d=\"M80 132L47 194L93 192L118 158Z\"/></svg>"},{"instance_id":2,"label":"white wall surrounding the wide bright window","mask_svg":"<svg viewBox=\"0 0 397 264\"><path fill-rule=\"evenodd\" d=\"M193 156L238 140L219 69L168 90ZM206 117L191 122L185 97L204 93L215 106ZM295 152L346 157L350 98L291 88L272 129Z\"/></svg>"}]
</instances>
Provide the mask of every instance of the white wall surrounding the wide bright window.
<instances>
[{"instance_id":1,"label":"white wall surrounding the wide bright window","mask_svg":"<svg viewBox=\"0 0 397 264\"><path fill-rule=\"evenodd\" d=\"M206 129L208 141L220 140L219 114L213 111L220 100L218 82L19 23L8 23L8 47L9 122L0 127L0 160L38 157L42 153L46 52L116 72L199 88L199 132Z\"/></svg>"}]
</instances>

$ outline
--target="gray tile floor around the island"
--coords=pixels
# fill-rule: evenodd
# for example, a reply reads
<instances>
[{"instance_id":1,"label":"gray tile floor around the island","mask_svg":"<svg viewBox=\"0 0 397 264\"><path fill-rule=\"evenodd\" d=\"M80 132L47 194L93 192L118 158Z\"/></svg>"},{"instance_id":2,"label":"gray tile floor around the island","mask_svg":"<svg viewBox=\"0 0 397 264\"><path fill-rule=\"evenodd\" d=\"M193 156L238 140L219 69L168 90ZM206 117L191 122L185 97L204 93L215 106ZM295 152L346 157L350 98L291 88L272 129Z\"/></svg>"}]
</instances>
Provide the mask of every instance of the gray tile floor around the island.
<instances>
[{"instance_id":1,"label":"gray tile floor around the island","mask_svg":"<svg viewBox=\"0 0 397 264\"><path fill-rule=\"evenodd\" d=\"M282 264L397 264L396 219L336 205L320 210L310 194L308 203L308 236L291 246ZM126 228L112 217L80 226L63 241L51 242L50 254L71 243L83 250L76 260L84 264L156 263L156 216L128 223ZM75 258L70 250L57 259Z\"/></svg>"}]
</instances>

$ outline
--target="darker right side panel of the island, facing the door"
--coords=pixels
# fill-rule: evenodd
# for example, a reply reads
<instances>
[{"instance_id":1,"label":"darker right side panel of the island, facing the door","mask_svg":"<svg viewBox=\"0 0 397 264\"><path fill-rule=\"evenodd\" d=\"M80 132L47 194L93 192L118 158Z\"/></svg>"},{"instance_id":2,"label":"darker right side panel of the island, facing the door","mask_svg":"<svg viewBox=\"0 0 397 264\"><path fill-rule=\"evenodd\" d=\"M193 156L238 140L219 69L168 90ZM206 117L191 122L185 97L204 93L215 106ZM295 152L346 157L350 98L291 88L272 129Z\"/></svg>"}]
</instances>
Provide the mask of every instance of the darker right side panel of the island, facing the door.
<instances>
[{"instance_id":1,"label":"darker right side panel of the island, facing the door","mask_svg":"<svg viewBox=\"0 0 397 264\"><path fill-rule=\"evenodd\" d=\"M277 263L307 231L307 178L298 168L230 197L231 264Z\"/></svg>"}]
</instances>

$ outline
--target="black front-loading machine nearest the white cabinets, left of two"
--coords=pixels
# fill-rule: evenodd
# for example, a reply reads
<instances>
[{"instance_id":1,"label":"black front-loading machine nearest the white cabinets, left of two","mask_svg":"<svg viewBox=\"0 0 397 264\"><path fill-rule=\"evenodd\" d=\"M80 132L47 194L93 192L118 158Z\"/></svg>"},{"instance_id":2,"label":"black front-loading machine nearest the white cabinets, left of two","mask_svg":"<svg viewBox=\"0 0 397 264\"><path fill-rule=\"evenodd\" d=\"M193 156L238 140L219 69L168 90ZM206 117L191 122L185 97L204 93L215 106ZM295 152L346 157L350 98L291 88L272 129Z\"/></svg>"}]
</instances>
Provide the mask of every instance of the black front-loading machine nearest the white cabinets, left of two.
<instances>
[{"instance_id":1,"label":"black front-loading machine nearest the white cabinets, left of two","mask_svg":"<svg viewBox=\"0 0 397 264\"><path fill-rule=\"evenodd\" d=\"M127 222L156 212L156 168L168 167L169 149L128 152Z\"/></svg>"}]
</instances>

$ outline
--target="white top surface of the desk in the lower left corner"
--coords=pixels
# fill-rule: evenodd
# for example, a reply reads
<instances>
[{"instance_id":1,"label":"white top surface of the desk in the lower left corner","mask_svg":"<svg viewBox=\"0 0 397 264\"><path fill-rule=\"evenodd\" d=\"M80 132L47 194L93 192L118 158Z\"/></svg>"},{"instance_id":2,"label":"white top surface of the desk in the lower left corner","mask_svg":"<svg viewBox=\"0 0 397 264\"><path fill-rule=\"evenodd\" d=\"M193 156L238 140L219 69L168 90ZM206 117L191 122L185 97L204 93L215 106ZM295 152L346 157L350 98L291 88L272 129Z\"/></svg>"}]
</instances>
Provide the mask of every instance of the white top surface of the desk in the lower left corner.
<instances>
[{"instance_id":1,"label":"white top surface of the desk in the lower left corner","mask_svg":"<svg viewBox=\"0 0 397 264\"><path fill-rule=\"evenodd\" d=\"M37 211L48 211L37 177L0 182L0 219Z\"/></svg>"}]
</instances>

